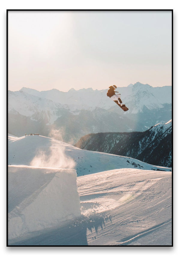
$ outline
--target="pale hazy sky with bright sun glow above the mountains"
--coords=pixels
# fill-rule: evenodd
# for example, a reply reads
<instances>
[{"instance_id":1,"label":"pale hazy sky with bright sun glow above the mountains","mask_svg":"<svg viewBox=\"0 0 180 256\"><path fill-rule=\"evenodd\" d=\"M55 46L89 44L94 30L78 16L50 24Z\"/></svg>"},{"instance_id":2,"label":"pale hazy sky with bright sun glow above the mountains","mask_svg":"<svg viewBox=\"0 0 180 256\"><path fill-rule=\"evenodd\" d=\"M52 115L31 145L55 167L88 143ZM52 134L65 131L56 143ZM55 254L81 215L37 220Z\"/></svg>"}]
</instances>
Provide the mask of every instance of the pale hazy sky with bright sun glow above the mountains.
<instances>
[{"instance_id":1,"label":"pale hazy sky with bright sun glow above the mountains","mask_svg":"<svg viewBox=\"0 0 180 256\"><path fill-rule=\"evenodd\" d=\"M8 89L172 85L171 11L9 11Z\"/></svg>"}]
</instances>

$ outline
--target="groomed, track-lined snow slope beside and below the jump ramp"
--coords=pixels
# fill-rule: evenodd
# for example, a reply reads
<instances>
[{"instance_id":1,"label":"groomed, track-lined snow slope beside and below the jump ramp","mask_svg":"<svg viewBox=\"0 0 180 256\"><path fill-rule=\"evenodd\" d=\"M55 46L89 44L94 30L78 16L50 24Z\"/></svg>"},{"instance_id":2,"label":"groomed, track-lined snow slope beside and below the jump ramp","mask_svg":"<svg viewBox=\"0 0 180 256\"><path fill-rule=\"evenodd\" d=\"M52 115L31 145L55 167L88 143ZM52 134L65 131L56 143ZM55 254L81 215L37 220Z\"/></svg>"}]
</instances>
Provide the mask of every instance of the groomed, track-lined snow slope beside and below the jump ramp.
<instances>
[{"instance_id":1,"label":"groomed, track-lined snow slope beside and below the jump ramp","mask_svg":"<svg viewBox=\"0 0 180 256\"><path fill-rule=\"evenodd\" d=\"M172 172L115 169L77 178L82 215L13 245L171 245Z\"/></svg>"}]
</instances>

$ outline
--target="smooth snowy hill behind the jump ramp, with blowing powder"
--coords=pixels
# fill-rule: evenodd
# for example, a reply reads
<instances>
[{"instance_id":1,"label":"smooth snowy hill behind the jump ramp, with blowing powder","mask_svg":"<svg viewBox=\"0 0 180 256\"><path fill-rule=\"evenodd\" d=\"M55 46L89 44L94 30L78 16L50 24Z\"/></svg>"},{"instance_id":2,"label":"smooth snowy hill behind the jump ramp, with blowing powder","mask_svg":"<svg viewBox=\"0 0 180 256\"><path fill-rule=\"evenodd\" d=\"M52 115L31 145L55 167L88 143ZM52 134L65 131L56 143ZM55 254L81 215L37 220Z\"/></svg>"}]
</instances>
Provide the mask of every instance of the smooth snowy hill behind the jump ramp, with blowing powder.
<instances>
[{"instance_id":1,"label":"smooth snowy hill behind the jump ramp, with blowing powder","mask_svg":"<svg viewBox=\"0 0 180 256\"><path fill-rule=\"evenodd\" d=\"M9 137L8 165L21 164L76 169L77 176L119 168L171 171L171 168L150 165L131 157L81 150L38 135Z\"/></svg>"}]
</instances>

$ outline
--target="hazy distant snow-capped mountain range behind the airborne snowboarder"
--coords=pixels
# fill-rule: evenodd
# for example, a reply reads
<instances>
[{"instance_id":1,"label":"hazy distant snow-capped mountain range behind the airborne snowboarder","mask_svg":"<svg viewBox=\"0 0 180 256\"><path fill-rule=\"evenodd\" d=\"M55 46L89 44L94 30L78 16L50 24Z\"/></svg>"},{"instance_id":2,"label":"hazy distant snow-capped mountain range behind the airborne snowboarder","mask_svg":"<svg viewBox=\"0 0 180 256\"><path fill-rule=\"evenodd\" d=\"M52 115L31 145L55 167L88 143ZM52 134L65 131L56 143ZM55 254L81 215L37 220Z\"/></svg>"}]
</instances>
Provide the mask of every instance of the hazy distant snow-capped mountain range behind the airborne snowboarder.
<instances>
[{"instance_id":1,"label":"hazy distant snow-capped mountain range behind the airborne snowboarder","mask_svg":"<svg viewBox=\"0 0 180 256\"><path fill-rule=\"evenodd\" d=\"M39 92L23 87L20 91L8 91L8 132L16 136L50 136L55 129L63 141L75 144L88 133L145 131L172 118L171 86L151 87L138 82L117 90L128 112L106 96L107 90Z\"/></svg>"}]
</instances>

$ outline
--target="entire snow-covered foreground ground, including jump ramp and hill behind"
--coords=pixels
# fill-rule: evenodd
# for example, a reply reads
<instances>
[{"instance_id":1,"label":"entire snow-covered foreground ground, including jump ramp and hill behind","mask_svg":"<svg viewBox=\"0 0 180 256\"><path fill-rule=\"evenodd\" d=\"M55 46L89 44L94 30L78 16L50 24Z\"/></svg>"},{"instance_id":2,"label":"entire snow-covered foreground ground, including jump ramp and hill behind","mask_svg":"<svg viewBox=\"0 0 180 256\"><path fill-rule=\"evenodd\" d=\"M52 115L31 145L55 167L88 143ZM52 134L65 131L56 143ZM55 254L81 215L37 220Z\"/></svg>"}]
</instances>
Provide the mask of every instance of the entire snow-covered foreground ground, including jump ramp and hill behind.
<instances>
[{"instance_id":1,"label":"entire snow-covered foreground ground, including jump ramp and hill behind","mask_svg":"<svg viewBox=\"0 0 180 256\"><path fill-rule=\"evenodd\" d=\"M171 178L129 157L9 136L8 245L172 245Z\"/></svg>"}]
</instances>

